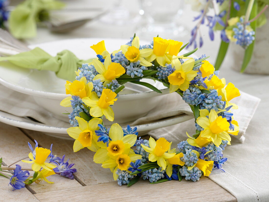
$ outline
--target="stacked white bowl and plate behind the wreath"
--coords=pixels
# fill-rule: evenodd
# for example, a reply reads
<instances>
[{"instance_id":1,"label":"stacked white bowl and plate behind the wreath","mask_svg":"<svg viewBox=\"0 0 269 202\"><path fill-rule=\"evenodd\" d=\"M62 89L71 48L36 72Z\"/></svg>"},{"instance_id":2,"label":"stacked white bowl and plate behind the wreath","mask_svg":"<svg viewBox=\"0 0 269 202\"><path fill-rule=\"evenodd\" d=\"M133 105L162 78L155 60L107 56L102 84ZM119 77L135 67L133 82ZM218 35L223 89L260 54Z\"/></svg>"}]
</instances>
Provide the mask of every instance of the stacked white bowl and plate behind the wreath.
<instances>
[{"instance_id":1,"label":"stacked white bowl and plate behind the wreath","mask_svg":"<svg viewBox=\"0 0 269 202\"><path fill-rule=\"evenodd\" d=\"M52 56L56 55L64 49L72 51L80 59L95 58L95 52L90 49L92 44L101 41L101 38L80 38L46 42L37 45L31 45L30 48L40 47L47 51ZM108 51L114 51L120 48L121 44L125 44L123 39L104 39ZM147 44L147 42L141 42ZM120 125L127 125L138 118L145 116L151 110L157 110L156 106L165 96L169 96L169 89L164 87L160 82L154 82L150 79L143 81L151 83L162 91L162 94L152 91L144 86L128 83L124 90L120 93L118 101L113 106L115 113L115 121ZM71 112L72 108L61 107L59 103L65 97L70 95L65 94L65 80L56 77L54 72L38 71L34 69L24 68L6 68L0 66L0 83L12 90L31 95L38 105L52 113L52 115L62 121L68 122L68 116L62 112ZM29 106L30 108L31 106ZM138 125L137 129L140 134L144 134L149 130L160 127L174 125L192 118L189 115L180 115L177 117L168 118L159 122ZM43 123L38 123L26 117L18 117L0 111L0 121L25 128L30 130L41 131L46 134L70 139L66 133L65 127L49 126ZM104 120L105 125L110 126L111 122Z\"/></svg>"}]
</instances>

